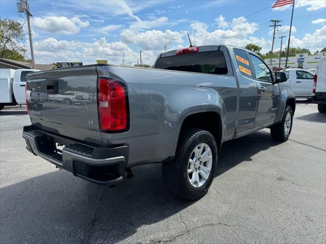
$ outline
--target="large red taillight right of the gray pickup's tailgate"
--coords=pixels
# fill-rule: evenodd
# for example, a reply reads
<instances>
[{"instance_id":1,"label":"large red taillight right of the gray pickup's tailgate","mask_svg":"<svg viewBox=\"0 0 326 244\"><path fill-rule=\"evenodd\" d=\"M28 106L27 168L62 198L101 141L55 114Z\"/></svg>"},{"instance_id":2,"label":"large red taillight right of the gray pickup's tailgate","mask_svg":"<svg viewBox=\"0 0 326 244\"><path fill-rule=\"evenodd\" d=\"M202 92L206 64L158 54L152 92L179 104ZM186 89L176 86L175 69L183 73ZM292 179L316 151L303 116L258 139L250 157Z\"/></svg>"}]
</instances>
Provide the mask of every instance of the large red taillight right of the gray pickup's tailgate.
<instances>
[{"instance_id":1,"label":"large red taillight right of the gray pickup's tailgate","mask_svg":"<svg viewBox=\"0 0 326 244\"><path fill-rule=\"evenodd\" d=\"M98 79L98 113L102 131L124 131L128 127L127 88L118 80Z\"/></svg>"}]
</instances>

